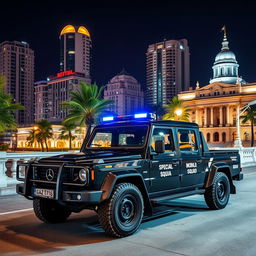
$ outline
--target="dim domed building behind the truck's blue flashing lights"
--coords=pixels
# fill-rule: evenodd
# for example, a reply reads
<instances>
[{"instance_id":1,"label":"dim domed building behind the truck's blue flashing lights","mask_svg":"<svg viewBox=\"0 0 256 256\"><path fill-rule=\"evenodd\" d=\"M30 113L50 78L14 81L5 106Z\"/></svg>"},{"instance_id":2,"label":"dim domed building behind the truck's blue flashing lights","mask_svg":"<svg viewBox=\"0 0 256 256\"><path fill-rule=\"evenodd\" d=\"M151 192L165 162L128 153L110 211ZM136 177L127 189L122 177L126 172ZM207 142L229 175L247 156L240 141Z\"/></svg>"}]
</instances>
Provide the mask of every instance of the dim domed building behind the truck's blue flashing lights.
<instances>
[{"instance_id":1,"label":"dim domed building behind the truck's blue flashing lights","mask_svg":"<svg viewBox=\"0 0 256 256\"><path fill-rule=\"evenodd\" d=\"M144 93L139 82L124 69L106 86L104 99L113 100L109 111L117 115L130 115L144 107Z\"/></svg>"}]
</instances>

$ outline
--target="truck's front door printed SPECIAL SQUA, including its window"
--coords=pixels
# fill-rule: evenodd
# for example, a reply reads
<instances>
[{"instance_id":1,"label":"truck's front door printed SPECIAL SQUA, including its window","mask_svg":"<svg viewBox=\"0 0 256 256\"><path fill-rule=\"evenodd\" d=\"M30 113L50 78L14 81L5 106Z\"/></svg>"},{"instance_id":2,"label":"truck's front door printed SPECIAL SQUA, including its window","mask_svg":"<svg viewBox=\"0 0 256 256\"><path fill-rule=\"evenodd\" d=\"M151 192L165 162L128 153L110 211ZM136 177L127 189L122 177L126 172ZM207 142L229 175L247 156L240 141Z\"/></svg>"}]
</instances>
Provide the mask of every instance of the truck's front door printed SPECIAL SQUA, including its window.
<instances>
[{"instance_id":1,"label":"truck's front door printed SPECIAL SQUA, including its window","mask_svg":"<svg viewBox=\"0 0 256 256\"><path fill-rule=\"evenodd\" d=\"M165 141L165 152L155 153L154 143L157 137L163 137ZM151 162L150 162L150 192L171 190L180 186L180 157L175 148L173 131L167 128L154 128L151 136Z\"/></svg>"}]
</instances>

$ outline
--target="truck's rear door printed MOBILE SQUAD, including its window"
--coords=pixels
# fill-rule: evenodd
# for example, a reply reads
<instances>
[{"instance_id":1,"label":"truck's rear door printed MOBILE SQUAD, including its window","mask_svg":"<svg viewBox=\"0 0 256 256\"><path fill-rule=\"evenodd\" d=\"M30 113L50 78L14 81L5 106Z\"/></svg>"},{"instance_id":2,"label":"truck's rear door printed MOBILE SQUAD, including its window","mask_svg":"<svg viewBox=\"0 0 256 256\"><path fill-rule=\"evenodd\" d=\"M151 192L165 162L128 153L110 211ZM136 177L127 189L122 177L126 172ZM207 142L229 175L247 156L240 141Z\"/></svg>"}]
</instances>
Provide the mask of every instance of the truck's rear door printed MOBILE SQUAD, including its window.
<instances>
[{"instance_id":1,"label":"truck's rear door printed MOBILE SQUAD, including its window","mask_svg":"<svg viewBox=\"0 0 256 256\"><path fill-rule=\"evenodd\" d=\"M176 128L181 155L180 182L182 187L204 183L206 162L197 129Z\"/></svg>"}]
</instances>

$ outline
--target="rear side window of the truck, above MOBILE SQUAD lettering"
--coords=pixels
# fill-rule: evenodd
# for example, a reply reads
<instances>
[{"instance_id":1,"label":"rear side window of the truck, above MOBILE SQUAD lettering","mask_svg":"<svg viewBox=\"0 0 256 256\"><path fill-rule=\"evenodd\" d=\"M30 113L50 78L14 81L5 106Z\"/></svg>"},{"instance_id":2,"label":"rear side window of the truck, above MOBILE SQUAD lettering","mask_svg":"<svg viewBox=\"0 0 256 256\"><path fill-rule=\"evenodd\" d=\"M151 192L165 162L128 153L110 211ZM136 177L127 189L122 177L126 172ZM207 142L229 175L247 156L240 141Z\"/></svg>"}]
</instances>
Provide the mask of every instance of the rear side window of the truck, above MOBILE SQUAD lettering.
<instances>
[{"instance_id":1,"label":"rear side window of the truck, above MOBILE SQUAD lettering","mask_svg":"<svg viewBox=\"0 0 256 256\"><path fill-rule=\"evenodd\" d=\"M181 152L198 151L195 131L178 130L178 141Z\"/></svg>"}]
</instances>

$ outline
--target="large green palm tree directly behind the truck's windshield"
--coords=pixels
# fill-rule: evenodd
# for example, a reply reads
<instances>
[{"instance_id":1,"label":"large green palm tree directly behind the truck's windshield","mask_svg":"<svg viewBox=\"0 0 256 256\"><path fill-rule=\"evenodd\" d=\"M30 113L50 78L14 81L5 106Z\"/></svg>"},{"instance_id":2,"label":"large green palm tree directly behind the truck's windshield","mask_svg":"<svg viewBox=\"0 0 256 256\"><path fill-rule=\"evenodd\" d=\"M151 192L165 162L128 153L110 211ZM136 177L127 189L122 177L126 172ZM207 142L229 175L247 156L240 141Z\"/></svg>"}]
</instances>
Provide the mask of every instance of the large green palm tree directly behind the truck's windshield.
<instances>
[{"instance_id":1,"label":"large green palm tree directly behind the truck's windshield","mask_svg":"<svg viewBox=\"0 0 256 256\"><path fill-rule=\"evenodd\" d=\"M103 86L88 85L84 82L81 82L80 85L80 90L70 93L70 101L62 103L69 110L64 122L77 124L78 126L86 125L87 133L85 139L87 139L97 117L107 110L112 101L101 98L104 90Z\"/></svg>"}]
</instances>

